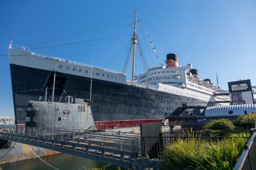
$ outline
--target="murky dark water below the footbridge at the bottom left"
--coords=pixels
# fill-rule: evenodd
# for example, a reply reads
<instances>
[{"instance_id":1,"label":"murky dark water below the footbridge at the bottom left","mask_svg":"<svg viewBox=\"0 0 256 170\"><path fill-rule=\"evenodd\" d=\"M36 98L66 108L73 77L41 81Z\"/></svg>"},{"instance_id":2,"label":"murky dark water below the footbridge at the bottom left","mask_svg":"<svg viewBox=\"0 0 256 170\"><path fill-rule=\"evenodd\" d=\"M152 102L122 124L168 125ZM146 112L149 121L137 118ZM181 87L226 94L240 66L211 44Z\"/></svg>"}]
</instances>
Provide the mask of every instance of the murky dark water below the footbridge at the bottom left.
<instances>
[{"instance_id":1,"label":"murky dark water below the footbridge at the bottom left","mask_svg":"<svg viewBox=\"0 0 256 170\"><path fill-rule=\"evenodd\" d=\"M46 163L52 165L59 170L84 170L92 168L94 165L103 167L105 163L96 162L95 160L77 157L74 155L59 153L41 157ZM44 163L39 158L23 160L19 162L0 165L0 170L56 170ZM116 170L117 166L111 165L106 170ZM124 170L122 168L122 170Z\"/></svg>"}]
</instances>

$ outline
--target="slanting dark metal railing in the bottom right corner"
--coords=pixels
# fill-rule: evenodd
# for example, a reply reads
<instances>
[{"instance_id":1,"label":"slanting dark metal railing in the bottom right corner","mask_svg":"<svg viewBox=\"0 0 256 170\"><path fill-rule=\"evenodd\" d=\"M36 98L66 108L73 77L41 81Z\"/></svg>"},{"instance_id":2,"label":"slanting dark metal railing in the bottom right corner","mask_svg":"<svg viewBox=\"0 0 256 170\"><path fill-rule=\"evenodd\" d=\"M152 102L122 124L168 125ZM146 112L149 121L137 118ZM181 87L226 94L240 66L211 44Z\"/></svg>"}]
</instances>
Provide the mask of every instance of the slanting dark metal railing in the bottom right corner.
<instances>
[{"instance_id":1,"label":"slanting dark metal railing in the bottom right corner","mask_svg":"<svg viewBox=\"0 0 256 170\"><path fill-rule=\"evenodd\" d=\"M256 169L256 128L250 129L251 138L247 145L244 145L238 162L234 170L255 170Z\"/></svg>"}]
</instances>

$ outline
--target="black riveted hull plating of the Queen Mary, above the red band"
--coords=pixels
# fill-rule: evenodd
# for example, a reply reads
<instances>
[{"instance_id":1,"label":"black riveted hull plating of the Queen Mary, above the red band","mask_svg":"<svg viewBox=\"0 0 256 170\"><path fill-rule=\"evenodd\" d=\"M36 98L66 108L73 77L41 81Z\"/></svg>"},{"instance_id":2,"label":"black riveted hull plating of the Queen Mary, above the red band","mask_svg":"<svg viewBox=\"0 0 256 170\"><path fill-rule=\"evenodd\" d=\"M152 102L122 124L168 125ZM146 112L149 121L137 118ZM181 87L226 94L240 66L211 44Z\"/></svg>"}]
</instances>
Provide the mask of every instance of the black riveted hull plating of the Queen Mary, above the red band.
<instances>
[{"instance_id":1,"label":"black riveted hull plating of the Queen Mary, above the red band","mask_svg":"<svg viewBox=\"0 0 256 170\"><path fill-rule=\"evenodd\" d=\"M52 100L54 71L10 64L16 124L25 124L28 101L44 98ZM56 72L54 101L63 90L75 98L90 98L90 78ZM177 88L178 89L178 88ZM170 115L183 103L203 105L206 100L185 97L149 88L92 79L91 111L94 121L159 120ZM64 102L64 97L60 100ZM209 100L208 100L209 102Z\"/></svg>"}]
</instances>

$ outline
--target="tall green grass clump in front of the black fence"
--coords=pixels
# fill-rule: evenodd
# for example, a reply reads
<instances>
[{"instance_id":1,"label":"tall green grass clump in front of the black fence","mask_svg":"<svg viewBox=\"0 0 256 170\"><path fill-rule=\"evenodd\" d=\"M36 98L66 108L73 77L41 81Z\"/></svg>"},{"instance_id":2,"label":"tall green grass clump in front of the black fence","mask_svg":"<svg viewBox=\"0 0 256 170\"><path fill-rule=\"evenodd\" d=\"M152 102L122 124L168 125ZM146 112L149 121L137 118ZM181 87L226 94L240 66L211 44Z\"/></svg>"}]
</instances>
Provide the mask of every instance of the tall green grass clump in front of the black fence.
<instances>
[{"instance_id":1,"label":"tall green grass clump in front of the black fence","mask_svg":"<svg viewBox=\"0 0 256 170\"><path fill-rule=\"evenodd\" d=\"M162 158L164 169L233 169L246 142L245 138L224 138L219 141L177 138L165 148Z\"/></svg>"}]
</instances>

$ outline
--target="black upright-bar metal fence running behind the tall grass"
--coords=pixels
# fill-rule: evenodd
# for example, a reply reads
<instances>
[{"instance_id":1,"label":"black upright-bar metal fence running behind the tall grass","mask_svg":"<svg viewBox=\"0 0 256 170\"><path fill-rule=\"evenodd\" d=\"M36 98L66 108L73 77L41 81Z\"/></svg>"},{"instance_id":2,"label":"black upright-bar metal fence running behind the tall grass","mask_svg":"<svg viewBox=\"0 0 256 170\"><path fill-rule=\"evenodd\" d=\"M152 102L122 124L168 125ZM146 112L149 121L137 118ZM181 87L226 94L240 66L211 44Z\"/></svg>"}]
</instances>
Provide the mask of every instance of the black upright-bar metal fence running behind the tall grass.
<instances>
[{"instance_id":1,"label":"black upright-bar metal fence running behind the tall grass","mask_svg":"<svg viewBox=\"0 0 256 170\"><path fill-rule=\"evenodd\" d=\"M198 140L217 141L222 138L250 138L249 131L241 132L168 132L162 136L142 136L142 149L144 157L161 159L164 147L171 145L177 138L189 140L195 138Z\"/></svg>"}]
</instances>

